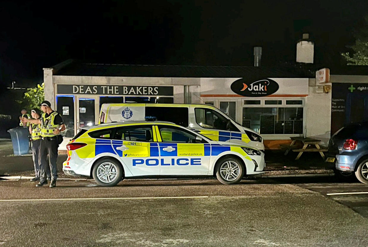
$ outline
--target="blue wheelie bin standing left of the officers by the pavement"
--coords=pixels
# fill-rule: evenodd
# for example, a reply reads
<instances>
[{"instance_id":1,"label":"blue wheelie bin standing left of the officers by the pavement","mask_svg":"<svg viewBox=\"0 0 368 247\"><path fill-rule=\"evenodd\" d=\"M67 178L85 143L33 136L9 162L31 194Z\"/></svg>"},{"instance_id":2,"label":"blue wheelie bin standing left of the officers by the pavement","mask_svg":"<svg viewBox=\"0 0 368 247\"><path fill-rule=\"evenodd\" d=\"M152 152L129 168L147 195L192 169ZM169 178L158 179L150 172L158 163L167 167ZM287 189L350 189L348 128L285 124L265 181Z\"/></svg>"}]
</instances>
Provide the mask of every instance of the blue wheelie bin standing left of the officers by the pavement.
<instances>
[{"instance_id":1,"label":"blue wheelie bin standing left of the officers by the pavement","mask_svg":"<svg viewBox=\"0 0 368 247\"><path fill-rule=\"evenodd\" d=\"M31 153L29 149L28 128L17 127L9 129L8 132L13 143L14 156Z\"/></svg>"}]
</instances>

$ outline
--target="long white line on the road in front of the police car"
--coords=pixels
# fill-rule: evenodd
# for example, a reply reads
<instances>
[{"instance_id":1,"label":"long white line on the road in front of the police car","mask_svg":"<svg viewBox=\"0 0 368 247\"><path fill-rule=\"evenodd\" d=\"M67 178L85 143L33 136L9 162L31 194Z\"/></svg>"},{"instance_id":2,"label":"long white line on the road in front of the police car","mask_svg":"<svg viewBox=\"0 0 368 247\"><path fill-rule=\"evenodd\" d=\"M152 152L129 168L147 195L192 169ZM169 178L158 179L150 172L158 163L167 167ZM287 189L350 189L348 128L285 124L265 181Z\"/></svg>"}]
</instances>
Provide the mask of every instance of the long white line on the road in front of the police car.
<instances>
[{"instance_id":1,"label":"long white line on the road in front of the police car","mask_svg":"<svg viewBox=\"0 0 368 247\"><path fill-rule=\"evenodd\" d=\"M208 198L208 196L156 196L156 197L97 197L97 198L46 198L46 199L3 199L0 202L29 202L29 201L80 201L80 200L134 200L134 199L185 199Z\"/></svg>"}]
</instances>

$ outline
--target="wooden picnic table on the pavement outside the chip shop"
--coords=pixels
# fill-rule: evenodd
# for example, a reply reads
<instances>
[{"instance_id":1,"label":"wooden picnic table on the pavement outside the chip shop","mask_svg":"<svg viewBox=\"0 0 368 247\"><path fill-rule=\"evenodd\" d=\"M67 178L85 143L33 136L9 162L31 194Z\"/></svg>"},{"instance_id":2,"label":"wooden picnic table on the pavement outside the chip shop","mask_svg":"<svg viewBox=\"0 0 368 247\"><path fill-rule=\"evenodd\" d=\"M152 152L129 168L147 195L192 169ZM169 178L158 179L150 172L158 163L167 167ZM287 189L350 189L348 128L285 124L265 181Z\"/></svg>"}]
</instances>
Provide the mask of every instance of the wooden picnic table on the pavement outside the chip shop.
<instances>
[{"instance_id":1,"label":"wooden picnic table on the pavement outside the chip shop","mask_svg":"<svg viewBox=\"0 0 368 247\"><path fill-rule=\"evenodd\" d=\"M299 152L298 156L295 159L295 160L298 160L300 156L303 154L303 152L319 152L319 154L321 154L322 156L322 159L325 159L325 154L323 154L323 152L328 151L328 149L323 149L321 148L321 146L319 146L319 143L321 142L321 140L310 138L310 137L304 138L302 136L290 137L290 139L292 141L290 143L290 146L287 147L287 150L284 155L287 155L290 150L292 150L293 152ZM296 147L296 145L294 145L296 141L300 141L303 143L303 147L301 149L294 149ZM312 147L312 145L314 145L315 148Z\"/></svg>"}]
</instances>

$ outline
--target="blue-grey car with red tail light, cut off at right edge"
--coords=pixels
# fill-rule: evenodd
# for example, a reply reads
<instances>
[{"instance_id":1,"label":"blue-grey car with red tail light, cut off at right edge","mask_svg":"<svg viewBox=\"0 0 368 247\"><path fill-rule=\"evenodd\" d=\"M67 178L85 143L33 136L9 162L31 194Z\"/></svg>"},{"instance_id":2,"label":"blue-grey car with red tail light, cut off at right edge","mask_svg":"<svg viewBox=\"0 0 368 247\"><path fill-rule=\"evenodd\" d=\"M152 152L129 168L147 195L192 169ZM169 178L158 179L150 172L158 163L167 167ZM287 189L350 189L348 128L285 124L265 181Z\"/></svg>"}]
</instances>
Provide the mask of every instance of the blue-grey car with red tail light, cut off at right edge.
<instances>
[{"instance_id":1,"label":"blue-grey car with red tail light, cut off at right edge","mask_svg":"<svg viewBox=\"0 0 368 247\"><path fill-rule=\"evenodd\" d=\"M326 161L335 163L342 175L355 173L368 184L368 122L339 129L330 139Z\"/></svg>"}]
</instances>

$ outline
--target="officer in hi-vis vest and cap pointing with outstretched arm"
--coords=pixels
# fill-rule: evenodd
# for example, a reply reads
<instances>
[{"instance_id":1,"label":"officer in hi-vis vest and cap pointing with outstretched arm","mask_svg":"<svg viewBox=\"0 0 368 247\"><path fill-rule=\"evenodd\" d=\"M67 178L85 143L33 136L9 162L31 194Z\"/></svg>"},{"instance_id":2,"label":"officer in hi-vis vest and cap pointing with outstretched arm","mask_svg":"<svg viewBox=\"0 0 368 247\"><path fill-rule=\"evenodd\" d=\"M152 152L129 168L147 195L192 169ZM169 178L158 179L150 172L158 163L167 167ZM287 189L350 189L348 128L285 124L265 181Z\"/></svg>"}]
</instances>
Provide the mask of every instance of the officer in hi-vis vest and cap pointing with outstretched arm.
<instances>
[{"instance_id":1,"label":"officer in hi-vis vest and cap pointing with outstretched arm","mask_svg":"<svg viewBox=\"0 0 368 247\"><path fill-rule=\"evenodd\" d=\"M65 130L65 125L60 114L51 109L51 103L47 100L42 101L39 105L43 114L40 119L27 120L25 122L31 122L32 124L41 124L41 144L39 151L39 166L40 166L40 181L36 184L36 187L42 187L47 184L46 180L46 157L49 154L49 163L51 168L51 183L50 188L56 186L57 179L57 148L59 142L57 136L61 131Z\"/></svg>"}]
</instances>

